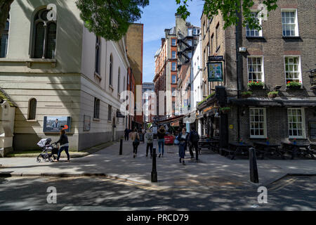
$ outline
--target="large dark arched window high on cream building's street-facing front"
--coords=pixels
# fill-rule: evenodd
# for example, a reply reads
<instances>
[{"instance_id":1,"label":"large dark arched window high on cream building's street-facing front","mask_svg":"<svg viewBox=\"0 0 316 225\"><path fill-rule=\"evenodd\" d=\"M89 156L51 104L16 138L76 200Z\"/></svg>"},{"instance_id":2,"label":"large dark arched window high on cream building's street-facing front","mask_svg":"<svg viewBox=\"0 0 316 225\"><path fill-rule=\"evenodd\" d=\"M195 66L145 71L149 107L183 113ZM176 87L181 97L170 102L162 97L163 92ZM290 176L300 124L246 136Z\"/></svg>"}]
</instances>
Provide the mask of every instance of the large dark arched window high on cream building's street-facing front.
<instances>
[{"instance_id":1,"label":"large dark arched window high on cream building's street-facing front","mask_svg":"<svg viewBox=\"0 0 316 225\"><path fill-rule=\"evenodd\" d=\"M34 17L33 58L55 58L57 25L47 20L48 11L41 9Z\"/></svg>"}]
</instances>

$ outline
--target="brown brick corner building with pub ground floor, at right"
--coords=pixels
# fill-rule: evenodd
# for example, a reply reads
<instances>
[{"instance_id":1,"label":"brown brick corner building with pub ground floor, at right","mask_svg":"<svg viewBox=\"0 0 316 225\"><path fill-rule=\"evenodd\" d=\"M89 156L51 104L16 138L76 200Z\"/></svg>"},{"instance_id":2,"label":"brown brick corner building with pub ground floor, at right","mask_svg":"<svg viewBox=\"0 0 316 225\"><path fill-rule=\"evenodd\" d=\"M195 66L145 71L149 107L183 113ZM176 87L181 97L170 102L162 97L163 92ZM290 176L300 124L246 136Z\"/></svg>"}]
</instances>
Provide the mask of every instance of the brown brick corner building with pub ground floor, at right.
<instances>
[{"instance_id":1,"label":"brown brick corner building with pub ground floor, at right","mask_svg":"<svg viewBox=\"0 0 316 225\"><path fill-rule=\"evenodd\" d=\"M208 82L204 53L205 99L197 107L198 118L202 133L220 136L222 146L240 139L315 141L316 92L310 78L316 56L315 0L279 0L277 5L268 20L260 21L261 31L241 25L223 30L221 15L209 20L202 15L203 49L225 61L223 82ZM263 86L251 88L249 82ZM268 97L270 91L278 94Z\"/></svg>"}]
</instances>

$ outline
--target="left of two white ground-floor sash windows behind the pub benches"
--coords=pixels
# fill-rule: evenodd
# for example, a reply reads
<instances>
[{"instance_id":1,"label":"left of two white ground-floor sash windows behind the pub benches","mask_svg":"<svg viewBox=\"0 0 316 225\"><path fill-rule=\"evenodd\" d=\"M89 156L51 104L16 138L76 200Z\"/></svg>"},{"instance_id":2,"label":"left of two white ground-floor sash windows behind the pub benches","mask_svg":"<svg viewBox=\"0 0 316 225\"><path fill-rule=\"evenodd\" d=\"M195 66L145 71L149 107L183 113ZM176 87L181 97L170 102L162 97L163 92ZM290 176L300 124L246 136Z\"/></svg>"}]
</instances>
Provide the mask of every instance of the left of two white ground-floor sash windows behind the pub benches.
<instances>
[{"instance_id":1,"label":"left of two white ground-floor sash windows behind the pub benches","mask_svg":"<svg viewBox=\"0 0 316 225\"><path fill-rule=\"evenodd\" d=\"M267 120L265 108L250 108L250 137L266 138L267 137Z\"/></svg>"}]
</instances>

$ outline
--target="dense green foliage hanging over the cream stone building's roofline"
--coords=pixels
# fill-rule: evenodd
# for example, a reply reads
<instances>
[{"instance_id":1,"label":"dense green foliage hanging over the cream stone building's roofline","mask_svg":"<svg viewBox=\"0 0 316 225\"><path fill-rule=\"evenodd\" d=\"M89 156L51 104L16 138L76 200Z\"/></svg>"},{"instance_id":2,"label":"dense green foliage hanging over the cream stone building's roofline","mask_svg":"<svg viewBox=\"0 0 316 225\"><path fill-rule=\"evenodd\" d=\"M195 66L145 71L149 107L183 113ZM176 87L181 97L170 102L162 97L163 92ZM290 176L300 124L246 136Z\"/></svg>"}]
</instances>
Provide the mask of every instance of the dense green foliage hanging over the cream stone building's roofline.
<instances>
[{"instance_id":1,"label":"dense green foliage hanging over the cream stone building's roofline","mask_svg":"<svg viewBox=\"0 0 316 225\"><path fill-rule=\"evenodd\" d=\"M119 41L129 25L140 19L149 0L77 0L80 18L89 32Z\"/></svg>"}]
</instances>

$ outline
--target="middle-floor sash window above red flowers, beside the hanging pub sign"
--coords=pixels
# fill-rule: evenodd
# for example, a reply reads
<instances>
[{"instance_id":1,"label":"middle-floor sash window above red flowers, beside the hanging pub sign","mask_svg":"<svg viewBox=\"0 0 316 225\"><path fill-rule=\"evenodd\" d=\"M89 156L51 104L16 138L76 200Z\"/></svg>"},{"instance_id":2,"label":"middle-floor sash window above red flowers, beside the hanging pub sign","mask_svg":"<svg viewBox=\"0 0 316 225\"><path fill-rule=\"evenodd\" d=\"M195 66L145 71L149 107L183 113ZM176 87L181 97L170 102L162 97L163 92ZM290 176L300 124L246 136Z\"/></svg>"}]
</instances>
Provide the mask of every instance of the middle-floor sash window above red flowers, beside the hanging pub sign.
<instances>
[{"instance_id":1,"label":"middle-floor sash window above red flowers, beside the hanging pub sign","mask_svg":"<svg viewBox=\"0 0 316 225\"><path fill-rule=\"evenodd\" d=\"M248 57L248 81L264 82L263 57Z\"/></svg>"}]
</instances>

